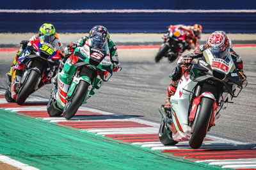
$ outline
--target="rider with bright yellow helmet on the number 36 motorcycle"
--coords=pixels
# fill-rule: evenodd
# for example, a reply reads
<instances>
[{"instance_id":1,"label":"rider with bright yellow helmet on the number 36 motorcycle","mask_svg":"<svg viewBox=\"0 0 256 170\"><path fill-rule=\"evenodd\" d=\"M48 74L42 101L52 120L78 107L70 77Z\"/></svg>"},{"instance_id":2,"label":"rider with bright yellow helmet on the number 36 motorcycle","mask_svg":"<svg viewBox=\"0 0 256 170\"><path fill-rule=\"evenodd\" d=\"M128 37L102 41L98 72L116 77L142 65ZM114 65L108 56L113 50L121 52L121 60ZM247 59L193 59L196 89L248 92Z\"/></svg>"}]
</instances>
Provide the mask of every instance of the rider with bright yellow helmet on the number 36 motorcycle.
<instances>
[{"instance_id":1,"label":"rider with bright yellow helmet on the number 36 motorcycle","mask_svg":"<svg viewBox=\"0 0 256 170\"><path fill-rule=\"evenodd\" d=\"M20 42L20 49L16 53L15 59L13 60L12 66L10 68L10 71L6 73L8 76L8 81L11 82L13 70L20 69L23 70L24 63L22 62L22 59L19 59L20 54L22 54L23 50L26 49L29 42L33 42L37 40L39 36L46 35L52 38L52 44L54 44L55 47L58 47L61 49L61 43L59 42L58 34L56 33L56 30L52 24L44 23L42 26L40 26L39 31L36 35L33 35L29 40L22 40ZM63 53L60 50L61 56L63 56Z\"/></svg>"}]
</instances>

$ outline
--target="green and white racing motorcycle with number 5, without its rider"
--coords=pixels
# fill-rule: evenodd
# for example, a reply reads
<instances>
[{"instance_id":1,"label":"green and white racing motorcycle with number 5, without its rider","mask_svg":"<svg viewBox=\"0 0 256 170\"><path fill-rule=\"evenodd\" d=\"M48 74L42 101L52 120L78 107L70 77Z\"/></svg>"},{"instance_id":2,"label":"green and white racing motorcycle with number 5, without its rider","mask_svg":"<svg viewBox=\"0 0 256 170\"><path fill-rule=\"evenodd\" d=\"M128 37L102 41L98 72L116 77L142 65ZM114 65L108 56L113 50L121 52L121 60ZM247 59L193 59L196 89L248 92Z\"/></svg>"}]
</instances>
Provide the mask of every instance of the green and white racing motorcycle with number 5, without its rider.
<instances>
[{"instance_id":1,"label":"green and white racing motorcycle with number 5, without its rider","mask_svg":"<svg viewBox=\"0 0 256 170\"><path fill-rule=\"evenodd\" d=\"M113 73L108 42L100 36L86 40L83 47L77 47L63 70L58 73L58 89L52 90L47 104L50 116L72 118L80 105L109 80Z\"/></svg>"}]
</instances>

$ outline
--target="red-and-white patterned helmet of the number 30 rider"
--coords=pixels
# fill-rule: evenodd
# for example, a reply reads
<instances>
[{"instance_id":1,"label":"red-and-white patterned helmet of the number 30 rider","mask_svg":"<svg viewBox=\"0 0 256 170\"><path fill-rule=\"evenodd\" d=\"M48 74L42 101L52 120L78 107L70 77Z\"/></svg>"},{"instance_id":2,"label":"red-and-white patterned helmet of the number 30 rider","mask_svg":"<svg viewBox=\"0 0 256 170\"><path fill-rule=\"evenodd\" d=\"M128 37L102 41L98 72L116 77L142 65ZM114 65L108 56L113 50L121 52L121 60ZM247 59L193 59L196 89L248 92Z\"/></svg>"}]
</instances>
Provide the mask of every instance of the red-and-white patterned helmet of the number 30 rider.
<instances>
[{"instance_id":1,"label":"red-and-white patterned helmet of the number 30 rider","mask_svg":"<svg viewBox=\"0 0 256 170\"><path fill-rule=\"evenodd\" d=\"M224 31L214 31L207 39L207 46L217 58L225 59L230 54L229 38Z\"/></svg>"}]
</instances>

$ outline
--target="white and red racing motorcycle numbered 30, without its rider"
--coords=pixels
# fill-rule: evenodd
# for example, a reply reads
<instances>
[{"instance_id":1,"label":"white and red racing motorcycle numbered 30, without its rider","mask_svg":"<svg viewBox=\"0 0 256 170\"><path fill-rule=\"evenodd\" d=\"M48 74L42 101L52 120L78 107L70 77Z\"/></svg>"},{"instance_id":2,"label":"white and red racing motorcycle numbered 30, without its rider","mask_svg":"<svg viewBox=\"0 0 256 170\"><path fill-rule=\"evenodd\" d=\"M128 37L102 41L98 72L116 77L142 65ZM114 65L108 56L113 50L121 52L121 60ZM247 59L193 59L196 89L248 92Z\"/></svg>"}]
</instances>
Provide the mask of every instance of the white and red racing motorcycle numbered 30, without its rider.
<instances>
[{"instance_id":1,"label":"white and red racing motorcycle numbered 30, without its rider","mask_svg":"<svg viewBox=\"0 0 256 170\"><path fill-rule=\"evenodd\" d=\"M207 49L202 58L193 59L170 98L170 111L163 105L159 107L163 117L159 128L161 143L175 145L189 140L191 148L200 148L223 104L241 92L240 78L230 54L223 59Z\"/></svg>"}]
</instances>

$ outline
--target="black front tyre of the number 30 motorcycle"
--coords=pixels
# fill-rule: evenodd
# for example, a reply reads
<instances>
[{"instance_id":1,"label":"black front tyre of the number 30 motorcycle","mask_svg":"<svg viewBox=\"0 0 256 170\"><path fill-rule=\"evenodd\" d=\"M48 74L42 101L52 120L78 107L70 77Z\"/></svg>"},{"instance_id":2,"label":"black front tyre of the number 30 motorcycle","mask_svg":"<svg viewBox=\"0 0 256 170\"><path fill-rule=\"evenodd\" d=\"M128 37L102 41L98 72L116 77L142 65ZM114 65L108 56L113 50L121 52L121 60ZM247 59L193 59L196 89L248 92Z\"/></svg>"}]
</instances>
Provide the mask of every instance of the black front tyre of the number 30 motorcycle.
<instances>
[{"instance_id":1,"label":"black front tyre of the number 30 motorcycle","mask_svg":"<svg viewBox=\"0 0 256 170\"><path fill-rule=\"evenodd\" d=\"M198 149L204 141L204 137L207 134L209 122L212 115L212 104L214 100L207 97L202 97L200 102L200 111L196 116L195 127L193 134L191 134L189 140L189 146L193 149Z\"/></svg>"}]
</instances>

